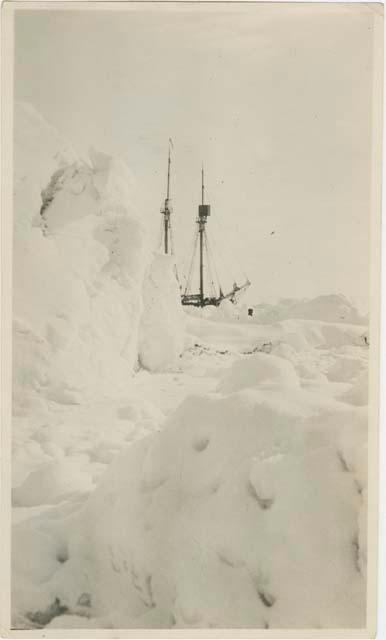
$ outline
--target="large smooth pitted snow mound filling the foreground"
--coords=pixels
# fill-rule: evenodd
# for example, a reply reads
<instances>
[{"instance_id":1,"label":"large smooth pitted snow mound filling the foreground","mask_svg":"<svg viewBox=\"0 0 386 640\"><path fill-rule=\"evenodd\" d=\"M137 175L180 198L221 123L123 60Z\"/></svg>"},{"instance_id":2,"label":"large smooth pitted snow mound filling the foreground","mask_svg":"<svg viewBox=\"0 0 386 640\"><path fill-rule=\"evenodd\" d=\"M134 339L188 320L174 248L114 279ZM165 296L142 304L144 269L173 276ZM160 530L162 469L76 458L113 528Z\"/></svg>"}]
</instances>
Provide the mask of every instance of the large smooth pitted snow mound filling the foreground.
<instances>
[{"instance_id":1,"label":"large smooth pitted snow mound filling the foreground","mask_svg":"<svg viewBox=\"0 0 386 640\"><path fill-rule=\"evenodd\" d=\"M363 626L363 485L339 420L326 424L253 392L187 399L115 459L83 511L40 524L66 536L67 559L38 582L39 615L87 601L90 626Z\"/></svg>"}]
</instances>

